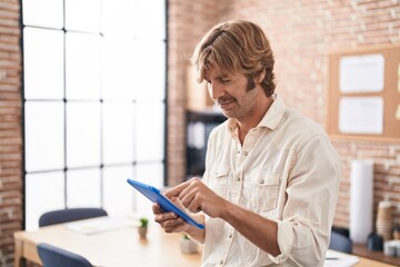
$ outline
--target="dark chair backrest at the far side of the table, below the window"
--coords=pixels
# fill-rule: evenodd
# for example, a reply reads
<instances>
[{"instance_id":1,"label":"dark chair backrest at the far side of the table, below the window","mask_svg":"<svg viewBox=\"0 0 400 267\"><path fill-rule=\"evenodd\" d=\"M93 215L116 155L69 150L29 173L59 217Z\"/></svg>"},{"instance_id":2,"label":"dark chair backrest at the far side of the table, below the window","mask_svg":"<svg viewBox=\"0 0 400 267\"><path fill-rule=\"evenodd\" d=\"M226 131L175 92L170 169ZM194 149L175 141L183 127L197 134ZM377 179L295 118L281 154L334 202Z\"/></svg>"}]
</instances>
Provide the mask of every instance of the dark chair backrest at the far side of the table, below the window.
<instances>
[{"instance_id":1,"label":"dark chair backrest at the far side of the table, below the window","mask_svg":"<svg viewBox=\"0 0 400 267\"><path fill-rule=\"evenodd\" d=\"M39 227L107 215L107 211L102 208L69 208L52 210L40 216Z\"/></svg>"}]
</instances>

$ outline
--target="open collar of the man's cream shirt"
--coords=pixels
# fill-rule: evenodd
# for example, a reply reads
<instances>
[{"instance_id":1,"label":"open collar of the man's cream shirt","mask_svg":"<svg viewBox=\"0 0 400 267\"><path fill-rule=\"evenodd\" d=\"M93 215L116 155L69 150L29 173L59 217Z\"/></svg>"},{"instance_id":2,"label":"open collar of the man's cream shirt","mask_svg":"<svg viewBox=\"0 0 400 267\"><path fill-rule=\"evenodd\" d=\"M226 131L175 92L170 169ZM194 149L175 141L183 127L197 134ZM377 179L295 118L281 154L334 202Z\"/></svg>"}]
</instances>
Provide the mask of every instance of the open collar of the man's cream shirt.
<instances>
[{"instance_id":1,"label":"open collar of the man's cream shirt","mask_svg":"<svg viewBox=\"0 0 400 267\"><path fill-rule=\"evenodd\" d=\"M271 106L269 107L266 115L263 116L263 118L261 119L261 121L257 127L267 127L271 130L277 129L277 127L279 126L280 121L283 118L287 106L284 105L283 99L279 97L277 93L274 93L273 102L271 103ZM232 118L228 119L228 130L231 134L233 134L236 132L237 128L238 128L238 123L236 119Z\"/></svg>"}]
</instances>

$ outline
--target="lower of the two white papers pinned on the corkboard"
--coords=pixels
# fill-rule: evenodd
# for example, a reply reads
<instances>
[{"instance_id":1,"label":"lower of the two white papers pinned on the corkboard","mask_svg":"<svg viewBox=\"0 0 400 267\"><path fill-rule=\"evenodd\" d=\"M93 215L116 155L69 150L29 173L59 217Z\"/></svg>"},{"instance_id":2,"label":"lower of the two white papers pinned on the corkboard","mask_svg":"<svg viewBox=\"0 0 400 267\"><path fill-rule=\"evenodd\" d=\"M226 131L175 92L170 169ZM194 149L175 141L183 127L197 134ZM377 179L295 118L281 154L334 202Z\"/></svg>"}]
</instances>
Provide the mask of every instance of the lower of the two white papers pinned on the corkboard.
<instances>
[{"instance_id":1,"label":"lower of the two white papers pinned on the corkboard","mask_svg":"<svg viewBox=\"0 0 400 267\"><path fill-rule=\"evenodd\" d=\"M342 97L339 101L339 131L342 134L383 134L381 97Z\"/></svg>"}]
</instances>

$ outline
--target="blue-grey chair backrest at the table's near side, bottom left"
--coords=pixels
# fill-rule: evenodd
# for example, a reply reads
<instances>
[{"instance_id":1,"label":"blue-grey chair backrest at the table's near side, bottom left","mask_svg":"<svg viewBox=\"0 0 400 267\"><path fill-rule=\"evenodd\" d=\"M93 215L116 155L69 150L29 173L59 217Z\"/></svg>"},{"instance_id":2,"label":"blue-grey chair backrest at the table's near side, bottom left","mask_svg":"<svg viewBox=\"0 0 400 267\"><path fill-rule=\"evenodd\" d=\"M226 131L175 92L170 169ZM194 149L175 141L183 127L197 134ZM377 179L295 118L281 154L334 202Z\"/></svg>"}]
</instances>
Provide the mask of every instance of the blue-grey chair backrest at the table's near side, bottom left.
<instances>
[{"instance_id":1,"label":"blue-grey chair backrest at the table's near side, bottom left","mask_svg":"<svg viewBox=\"0 0 400 267\"><path fill-rule=\"evenodd\" d=\"M38 254L43 267L92 267L81 255L46 243L38 245Z\"/></svg>"}]
</instances>

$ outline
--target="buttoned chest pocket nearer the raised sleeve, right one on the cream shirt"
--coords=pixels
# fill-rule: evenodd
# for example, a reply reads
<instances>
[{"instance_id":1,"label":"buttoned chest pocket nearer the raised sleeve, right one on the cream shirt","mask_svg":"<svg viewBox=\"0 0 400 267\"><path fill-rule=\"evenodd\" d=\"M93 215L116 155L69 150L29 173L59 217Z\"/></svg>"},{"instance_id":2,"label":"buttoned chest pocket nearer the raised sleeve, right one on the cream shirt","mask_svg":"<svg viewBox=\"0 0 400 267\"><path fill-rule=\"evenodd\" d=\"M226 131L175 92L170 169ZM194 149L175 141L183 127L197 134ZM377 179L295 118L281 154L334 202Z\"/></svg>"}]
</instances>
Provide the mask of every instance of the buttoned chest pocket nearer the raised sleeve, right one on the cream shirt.
<instances>
[{"instance_id":1,"label":"buttoned chest pocket nearer the raised sleeve, right one on the cream shirt","mask_svg":"<svg viewBox=\"0 0 400 267\"><path fill-rule=\"evenodd\" d=\"M268 211L277 208L279 175L276 172L261 171L250 181L251 206L254 210Z\"/></svg>"}]
</instances>

